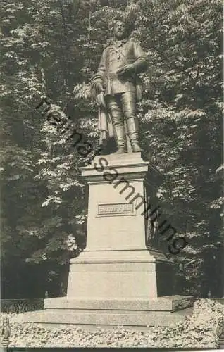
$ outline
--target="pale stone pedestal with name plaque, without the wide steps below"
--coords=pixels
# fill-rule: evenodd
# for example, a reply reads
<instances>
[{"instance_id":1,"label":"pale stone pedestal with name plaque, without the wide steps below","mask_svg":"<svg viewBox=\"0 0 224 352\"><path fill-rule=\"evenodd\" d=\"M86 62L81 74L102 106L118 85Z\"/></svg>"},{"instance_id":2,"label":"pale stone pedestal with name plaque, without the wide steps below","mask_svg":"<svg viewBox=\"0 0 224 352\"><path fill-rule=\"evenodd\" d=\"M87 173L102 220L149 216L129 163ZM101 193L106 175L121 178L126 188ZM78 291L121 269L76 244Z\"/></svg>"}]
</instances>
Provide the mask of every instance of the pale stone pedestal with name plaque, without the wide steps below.
<instances>
[{"instance_id":1,"label":"pale stone pedestal with name plaque, without the wide steps below","mask_svg":"<svg viewBox=\"0 0 224 352\"><path fill-rule=\"evenodd\" d=\"M81 168L89 184L87 247L70 260L68 298L172 294L172 263L146 246L146 189L161 175L141 153L113 154Z\"/></svg>"}]
</instances>

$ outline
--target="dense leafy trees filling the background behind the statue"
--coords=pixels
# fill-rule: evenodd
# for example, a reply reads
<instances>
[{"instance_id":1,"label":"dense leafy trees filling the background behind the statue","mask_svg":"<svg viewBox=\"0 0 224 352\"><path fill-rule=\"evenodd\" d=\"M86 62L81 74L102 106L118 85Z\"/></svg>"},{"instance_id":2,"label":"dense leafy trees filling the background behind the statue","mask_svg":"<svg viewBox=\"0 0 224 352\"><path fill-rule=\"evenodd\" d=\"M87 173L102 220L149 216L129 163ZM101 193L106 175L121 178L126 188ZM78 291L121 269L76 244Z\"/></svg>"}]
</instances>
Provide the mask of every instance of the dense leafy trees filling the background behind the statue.
<instances>
[{"instance_id":1,"label":"dense leafy trees filling the background behind the statue","mask_svg":"<svg viewBox=\"0 0 224 352\"><path fill-rule=\"evenodd\" d=\"M164 215L189 243L173 256L176 292L219 295L221 1L2 0L0 7L1 258L14 295L27 294L20 282L33 268L37 282L44 272L44 280L60 281L63 264L85 246L87 188L78 166L88 160L49 125L44 106L35 107L48 94L51 110L97 145L89 80L111 20L122 14L149 61L142 146L166 176L158 190Z\"/></svg>"}]
</instances>

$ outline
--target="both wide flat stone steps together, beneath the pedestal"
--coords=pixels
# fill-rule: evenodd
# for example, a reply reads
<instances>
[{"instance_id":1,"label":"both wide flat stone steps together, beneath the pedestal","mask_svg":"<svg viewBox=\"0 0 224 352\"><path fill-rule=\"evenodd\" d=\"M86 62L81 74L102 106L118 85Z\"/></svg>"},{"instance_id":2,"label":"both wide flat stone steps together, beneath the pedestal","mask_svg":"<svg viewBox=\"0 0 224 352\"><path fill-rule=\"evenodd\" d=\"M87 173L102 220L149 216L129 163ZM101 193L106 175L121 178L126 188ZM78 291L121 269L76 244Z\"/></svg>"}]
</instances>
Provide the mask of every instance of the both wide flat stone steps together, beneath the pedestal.
<instances>
[{"instance_id":1,"label":"both wide flat stone steps together, beneath the pedestal","mask_svg":"<svg viewBox=\"0 0 224 352\"><path fill-rule=\"evenodd\" d=\"M48 327L74 325L84 329L116 325L144 331L148 326L170 326L192 313L192 298L167 296L154 299L48 298L45 310L25 313L24 322Z\"/></svg>"}]
</instances>

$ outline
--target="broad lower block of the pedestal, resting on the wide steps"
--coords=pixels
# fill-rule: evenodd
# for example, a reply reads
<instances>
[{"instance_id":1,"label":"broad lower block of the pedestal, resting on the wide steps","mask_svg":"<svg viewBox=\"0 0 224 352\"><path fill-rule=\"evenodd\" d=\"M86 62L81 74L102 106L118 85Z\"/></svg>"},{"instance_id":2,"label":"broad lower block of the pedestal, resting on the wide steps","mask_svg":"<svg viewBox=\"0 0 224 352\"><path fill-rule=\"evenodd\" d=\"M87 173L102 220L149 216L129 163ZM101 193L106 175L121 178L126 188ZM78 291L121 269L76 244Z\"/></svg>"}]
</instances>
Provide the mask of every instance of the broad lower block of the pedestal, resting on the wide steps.
<instances>
[{"instance_id":1,"label":"broad lower block of the pedestal, resting on the wide steps","mask_svg":"<svg viewBox=\"0 0 224 352\"><path fill-rule=\"evenodd\" d=\"M156 298L173 293L172 263L160 251L84 251L70 261L68 298Z\"/></svg>"}]
</instances>

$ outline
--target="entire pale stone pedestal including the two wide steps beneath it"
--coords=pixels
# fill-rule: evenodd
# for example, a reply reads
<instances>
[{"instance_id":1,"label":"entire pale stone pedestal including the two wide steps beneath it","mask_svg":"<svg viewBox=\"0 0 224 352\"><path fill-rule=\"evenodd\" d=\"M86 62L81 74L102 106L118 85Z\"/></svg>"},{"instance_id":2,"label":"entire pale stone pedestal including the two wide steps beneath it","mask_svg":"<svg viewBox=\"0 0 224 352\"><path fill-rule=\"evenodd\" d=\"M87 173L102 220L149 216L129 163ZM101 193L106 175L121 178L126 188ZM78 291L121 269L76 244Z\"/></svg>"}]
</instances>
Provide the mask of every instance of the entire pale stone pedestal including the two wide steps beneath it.
<instances>
[{"instance_id":1,"label":"entire pale stone pedestal including the two wide steps beneath it","mask_svg":"<svg viewBox=\"0 0 224 352\"><path fill-rule=\"evenodd\" d=\"M44 311L24 321L147 329L184 320L192 299L173 296L173 264L152 246L145 216L159 172L140 153L99 156L81 170L89 184L86 249L70 260L67 297L45 299Z\"/></svg>"}]
</instances>

